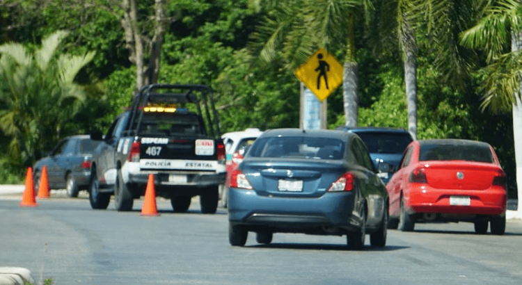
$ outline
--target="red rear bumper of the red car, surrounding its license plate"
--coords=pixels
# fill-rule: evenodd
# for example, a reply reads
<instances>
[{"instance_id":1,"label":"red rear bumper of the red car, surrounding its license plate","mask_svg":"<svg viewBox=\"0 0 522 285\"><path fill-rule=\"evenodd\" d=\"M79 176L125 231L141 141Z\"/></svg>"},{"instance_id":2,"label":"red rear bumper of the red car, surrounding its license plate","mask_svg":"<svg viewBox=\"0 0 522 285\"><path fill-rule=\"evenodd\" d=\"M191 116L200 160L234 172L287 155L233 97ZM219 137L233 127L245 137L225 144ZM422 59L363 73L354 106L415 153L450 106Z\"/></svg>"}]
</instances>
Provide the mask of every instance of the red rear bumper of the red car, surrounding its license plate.
<instances>
[{"instance_id":1,"label":"red rear bumper of the red car, surrounding its license plate","mask_svg":"<svg viewBox=\"0 0 522 285\"><path fill-rule=\"evenodd\" d=\"M452 205L450 197L469 197L469 205ZM404 197L409 213L447 213L500 215L507 209L507 193L503 188L487 190L436 189L423 186Z\"/></svg>"}]
</instances>

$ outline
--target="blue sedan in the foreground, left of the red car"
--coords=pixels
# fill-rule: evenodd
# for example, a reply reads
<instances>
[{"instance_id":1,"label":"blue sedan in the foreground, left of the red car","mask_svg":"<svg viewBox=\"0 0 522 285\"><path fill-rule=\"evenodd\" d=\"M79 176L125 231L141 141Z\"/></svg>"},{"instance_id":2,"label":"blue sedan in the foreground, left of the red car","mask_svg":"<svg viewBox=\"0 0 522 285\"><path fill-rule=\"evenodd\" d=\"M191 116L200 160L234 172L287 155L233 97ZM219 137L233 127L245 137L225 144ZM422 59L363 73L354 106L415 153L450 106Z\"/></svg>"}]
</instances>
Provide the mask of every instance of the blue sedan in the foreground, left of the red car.
<instances>
[{"instance_id":1,"label":"blue sedan in the foreground, left of the red car","mask_svg":"<svg viewBox=\"0 0 522 285\"><path fill-rule=\"evenodd\" d=\"M273 129L232 172L229 241L248 231L269 244L274 233L347 236L351 249L386 245L388 194L355 133Z\"/></svg>"}]
</instances>

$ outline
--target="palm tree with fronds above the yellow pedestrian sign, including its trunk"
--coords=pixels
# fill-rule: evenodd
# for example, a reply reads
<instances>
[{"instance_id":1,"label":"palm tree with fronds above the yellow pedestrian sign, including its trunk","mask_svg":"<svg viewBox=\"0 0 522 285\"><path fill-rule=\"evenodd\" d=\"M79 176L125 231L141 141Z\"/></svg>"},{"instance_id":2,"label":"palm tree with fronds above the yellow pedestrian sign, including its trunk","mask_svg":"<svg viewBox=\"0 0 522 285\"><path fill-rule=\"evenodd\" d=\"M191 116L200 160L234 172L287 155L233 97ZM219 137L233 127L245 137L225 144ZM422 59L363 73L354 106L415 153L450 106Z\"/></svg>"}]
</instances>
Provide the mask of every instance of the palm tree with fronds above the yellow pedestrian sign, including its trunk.
<instances>
[{"instance_id":1,"label":"palm tree with fronds above the yellow pedestrian sign, including its trunk","mask_svg":"<svg viewBox=\"0 0 522 285\"><path fill-rule=\"evenodd\" d=\"M372 8L370 0L280 0L256 1L267 11L264 26L254 34L262 42L255 54L266 62L285 59L295 70L318 48L344 50L342 76L345 125L357 125L357 62L355 26L359 15Z\"/></svg>"}]
</instances>

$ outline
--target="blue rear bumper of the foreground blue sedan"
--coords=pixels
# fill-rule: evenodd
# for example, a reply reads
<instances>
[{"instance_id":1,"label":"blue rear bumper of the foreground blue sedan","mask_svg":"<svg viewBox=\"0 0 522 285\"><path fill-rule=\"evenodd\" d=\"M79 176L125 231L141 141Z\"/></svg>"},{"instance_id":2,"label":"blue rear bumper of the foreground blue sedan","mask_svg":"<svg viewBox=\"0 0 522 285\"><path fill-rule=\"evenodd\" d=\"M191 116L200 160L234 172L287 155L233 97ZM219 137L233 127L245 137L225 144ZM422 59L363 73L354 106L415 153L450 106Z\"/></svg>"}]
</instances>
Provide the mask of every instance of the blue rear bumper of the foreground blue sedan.
<instances>
[{"instance_id":1,"label":"blue rear bumper of the foreground blue sedan","mask_svg":"<svg viewBox=\"0 0 522 285\"><path fill-rule=\"evenodd\" d=\"M271 227L274 231L307 232L317 227L354 231L354 193L325 193L322 197L269 197L254 190L229 189L228 220L235 225Z\"/></svg>"}]
</instances>

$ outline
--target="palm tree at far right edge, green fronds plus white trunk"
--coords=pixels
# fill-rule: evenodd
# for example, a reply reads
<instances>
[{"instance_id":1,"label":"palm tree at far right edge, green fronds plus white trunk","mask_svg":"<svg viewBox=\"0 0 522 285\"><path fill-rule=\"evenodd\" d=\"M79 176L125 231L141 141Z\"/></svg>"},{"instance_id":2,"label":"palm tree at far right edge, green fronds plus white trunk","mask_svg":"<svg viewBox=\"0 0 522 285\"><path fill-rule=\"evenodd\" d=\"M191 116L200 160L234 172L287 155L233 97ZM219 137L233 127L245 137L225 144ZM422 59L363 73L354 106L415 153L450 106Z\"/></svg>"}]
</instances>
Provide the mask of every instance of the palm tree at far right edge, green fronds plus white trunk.
<instances>
[{"instance_id":1,"label":"palm tree at far right edge, green fronds plus white trunk","mask_svg":"<svg viewBox=\"0 0 522 285\"><path fill-rule=\"evenodd\" d=\"M461 44L487 54L486 80L482 82L482 108L512 111L518 213L522 213L522 4L498 0L480 21L461 35ZM510 49L509 43L511 44Z\"/></svg>"}]
</instances>

